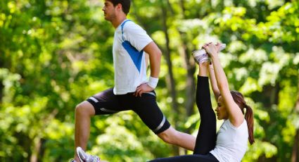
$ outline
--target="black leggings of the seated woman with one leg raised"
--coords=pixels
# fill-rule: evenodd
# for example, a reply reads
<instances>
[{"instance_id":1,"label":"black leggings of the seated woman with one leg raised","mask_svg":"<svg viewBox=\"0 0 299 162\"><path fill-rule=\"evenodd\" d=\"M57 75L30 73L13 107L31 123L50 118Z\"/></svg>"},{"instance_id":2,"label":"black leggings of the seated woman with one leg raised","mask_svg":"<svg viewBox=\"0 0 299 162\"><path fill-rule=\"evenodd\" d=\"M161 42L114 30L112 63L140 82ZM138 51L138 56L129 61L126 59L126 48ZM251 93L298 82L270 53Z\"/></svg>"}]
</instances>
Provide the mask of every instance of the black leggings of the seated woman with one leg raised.
<instances>
[{"instance_id":1,"label":"black leggings of the seated woman with one leg raised","mask_svg":"<svg viewBox=\"0 0 299 162\"><path fill-rule=\"evenodd\" d=\"M197 79L196 105L201 116L201 124L199 125L193 155L157 158L153 161L217 161L217 158L209 153L216 144L216 116L212 109L209 78L198 76Z\"/></svg>"}]
</instances>

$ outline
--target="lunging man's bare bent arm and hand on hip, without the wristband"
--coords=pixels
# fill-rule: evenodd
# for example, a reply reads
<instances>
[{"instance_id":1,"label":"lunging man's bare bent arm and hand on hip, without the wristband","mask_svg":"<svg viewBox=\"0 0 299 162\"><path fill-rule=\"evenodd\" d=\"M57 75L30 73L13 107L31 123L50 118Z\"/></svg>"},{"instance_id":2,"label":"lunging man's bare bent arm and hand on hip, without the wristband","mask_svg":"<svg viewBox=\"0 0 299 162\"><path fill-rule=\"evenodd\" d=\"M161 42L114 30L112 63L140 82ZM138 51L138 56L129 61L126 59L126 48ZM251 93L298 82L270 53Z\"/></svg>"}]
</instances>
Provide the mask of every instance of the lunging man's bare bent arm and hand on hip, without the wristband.
<instances>
[{"instance_id":1,"label":"lunging man's bare bent arm and hand on hip, without the wristband","mask_svg":"<svg viewBox=\"0 0 299 162\"><path fill-rule=\"evenodd\" d=\"M155 42L151 42L146 45L144 47L144 51L149 56L151 77L153 77L154 80L156 79L158 82L162 52ZM141 94L144 92L151 92L154 88L155 87L151 87L148 84L139 85L139 87L136 89L135 96L141 96Z\"/></svg>"}]
</instances>

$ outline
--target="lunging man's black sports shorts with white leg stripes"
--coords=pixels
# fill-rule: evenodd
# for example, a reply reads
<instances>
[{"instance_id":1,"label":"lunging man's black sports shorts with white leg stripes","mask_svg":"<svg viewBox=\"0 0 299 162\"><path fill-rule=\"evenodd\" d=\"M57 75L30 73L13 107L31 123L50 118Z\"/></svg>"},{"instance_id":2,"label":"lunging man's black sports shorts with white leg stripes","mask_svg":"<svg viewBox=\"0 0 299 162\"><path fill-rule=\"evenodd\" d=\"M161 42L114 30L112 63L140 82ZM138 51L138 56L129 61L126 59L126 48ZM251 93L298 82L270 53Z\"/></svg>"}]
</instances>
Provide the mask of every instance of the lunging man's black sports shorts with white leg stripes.
<instances>
[{"instance_id":1,"label":"lunging man's black sports shorts with white leg stripes","mask_svg":"<svg viewBox=\"0 0 299 162\"><path fill-rule=\"evenodd\" d=\"M133 93L115 95L111 88L89 97L87 101L94 106L96 115L132 110L155 134L170 127L155 101L154 91L143 93L141 96L134 96Z\"/></svg>"}]
</instances>

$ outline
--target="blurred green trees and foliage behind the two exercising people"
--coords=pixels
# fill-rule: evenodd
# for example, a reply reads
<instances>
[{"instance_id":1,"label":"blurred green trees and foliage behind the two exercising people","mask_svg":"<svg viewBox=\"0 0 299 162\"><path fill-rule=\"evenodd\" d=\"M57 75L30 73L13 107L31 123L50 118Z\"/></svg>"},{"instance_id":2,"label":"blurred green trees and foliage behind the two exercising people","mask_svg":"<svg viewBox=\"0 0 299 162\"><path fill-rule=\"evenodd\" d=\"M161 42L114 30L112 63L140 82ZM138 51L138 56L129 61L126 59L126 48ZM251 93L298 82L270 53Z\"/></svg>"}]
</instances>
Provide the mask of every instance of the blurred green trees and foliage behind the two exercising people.
<instances>
[{"instance_id":1,"label":"blurred green trees and foliage behind the two exercising people","mask_svg":"<svg viewBox=\"0 0 299 162\"><path fill-rule=\"evenodd\" d=\"M102 7L0 1L0 161L73 157L75 106L114 85L114 28ZM163 51L156 92L173 127L196 135L191 52L223 42L229 86L255 113L255 144L243 161L299 161L298 0L132 0L128 18ZM165 144L131 111L92 118L88 150L106 161L192 154Z\"/></svg>"}]
</instances>

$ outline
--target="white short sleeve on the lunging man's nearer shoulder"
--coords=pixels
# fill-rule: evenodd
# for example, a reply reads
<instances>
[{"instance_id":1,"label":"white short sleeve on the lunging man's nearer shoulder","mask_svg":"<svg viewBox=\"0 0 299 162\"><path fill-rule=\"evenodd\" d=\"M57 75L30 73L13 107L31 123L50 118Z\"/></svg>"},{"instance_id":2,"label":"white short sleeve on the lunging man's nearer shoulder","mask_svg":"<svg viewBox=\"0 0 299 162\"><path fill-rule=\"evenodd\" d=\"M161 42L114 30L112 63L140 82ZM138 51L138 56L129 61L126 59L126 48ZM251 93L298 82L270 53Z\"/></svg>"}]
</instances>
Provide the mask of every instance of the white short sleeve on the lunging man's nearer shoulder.
<instances>
[{"instance_id":1,"label":"white short sleeve on the lunging man's nearer shoulder","mask_svg":"<svg viewBox=\"0 0 299 162\"><path fill-rule=\"evenodd\" d=\"M129 41L138 51L144 49L146 45L153 42L146 31L133 22L128 22L124 26L124 39Z\"/></svg>"}]
</instances>

